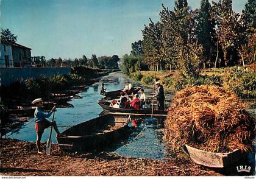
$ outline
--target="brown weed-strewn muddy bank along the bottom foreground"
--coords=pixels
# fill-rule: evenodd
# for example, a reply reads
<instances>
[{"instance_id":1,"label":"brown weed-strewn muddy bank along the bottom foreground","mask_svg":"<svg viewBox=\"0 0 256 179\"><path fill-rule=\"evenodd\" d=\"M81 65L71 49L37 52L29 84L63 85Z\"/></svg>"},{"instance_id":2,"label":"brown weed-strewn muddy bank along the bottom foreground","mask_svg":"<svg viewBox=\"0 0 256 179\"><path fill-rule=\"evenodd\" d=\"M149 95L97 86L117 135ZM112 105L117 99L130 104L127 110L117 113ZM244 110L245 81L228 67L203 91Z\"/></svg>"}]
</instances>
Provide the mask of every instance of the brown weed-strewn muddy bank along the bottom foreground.
<instances>
[{"instance_id":1,"label":"brown weed-strewn muddy bank along the bottom foreground","mask_svg":"<svg viewBox=\"0 0 256 179\"><path fill-rule=\"evenodd\" d=\"M52 155L38 155L34 142L0 139L1 175L33 176L179 176L222 175L194 164L189 158L177 156L166 161L123 157L114 153L63 153L56 144ZM45 143L44 143L45 145Z\"/></svg>"}]
</instances>

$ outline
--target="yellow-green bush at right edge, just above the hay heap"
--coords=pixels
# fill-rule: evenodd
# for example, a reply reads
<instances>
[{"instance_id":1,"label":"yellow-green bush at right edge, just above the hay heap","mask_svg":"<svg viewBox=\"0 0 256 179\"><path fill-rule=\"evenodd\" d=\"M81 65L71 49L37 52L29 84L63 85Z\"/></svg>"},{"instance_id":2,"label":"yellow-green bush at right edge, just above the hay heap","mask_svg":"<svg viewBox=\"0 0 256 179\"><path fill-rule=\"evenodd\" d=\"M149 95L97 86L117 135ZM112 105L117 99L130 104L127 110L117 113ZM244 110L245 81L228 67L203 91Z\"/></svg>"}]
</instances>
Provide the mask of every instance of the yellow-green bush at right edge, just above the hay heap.
<instances>
[{"instance_id":1,"label":"yellow-green bush at right edge, just above the hay heap","mask_svg":"<svg viewBox=\"0 0 256 179\"><path fill-rule=\"evenodd\" d=\"M233 90L242 98L256 97L255 72L246 72L244 69L232 69L224 76L224 88Z\"/></svg>"}]
</instances>

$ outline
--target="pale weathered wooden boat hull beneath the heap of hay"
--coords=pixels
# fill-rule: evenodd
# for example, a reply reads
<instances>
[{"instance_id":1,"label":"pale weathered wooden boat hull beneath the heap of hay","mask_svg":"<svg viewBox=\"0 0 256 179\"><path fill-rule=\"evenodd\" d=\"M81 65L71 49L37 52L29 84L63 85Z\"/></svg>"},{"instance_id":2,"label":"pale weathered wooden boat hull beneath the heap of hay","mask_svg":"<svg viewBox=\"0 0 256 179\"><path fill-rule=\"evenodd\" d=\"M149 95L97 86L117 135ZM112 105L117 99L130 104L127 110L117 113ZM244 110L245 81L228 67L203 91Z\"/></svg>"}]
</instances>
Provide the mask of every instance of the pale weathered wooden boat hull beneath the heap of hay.
<instances>
[{"instance_id":1,"label":"pale weathered wooden boat hull beneath the heap of hay","mask_svg":"<svg viewBox=\"0 0 256 179\"><path fill-rule=\"evenodd\" d=\"M229 153L213 153L185 145L183 151L187 153L195 163L215 168L230 166L236 161L239 161L243 156L241 149L236 149Z\"/></svg>"}]
</instances>

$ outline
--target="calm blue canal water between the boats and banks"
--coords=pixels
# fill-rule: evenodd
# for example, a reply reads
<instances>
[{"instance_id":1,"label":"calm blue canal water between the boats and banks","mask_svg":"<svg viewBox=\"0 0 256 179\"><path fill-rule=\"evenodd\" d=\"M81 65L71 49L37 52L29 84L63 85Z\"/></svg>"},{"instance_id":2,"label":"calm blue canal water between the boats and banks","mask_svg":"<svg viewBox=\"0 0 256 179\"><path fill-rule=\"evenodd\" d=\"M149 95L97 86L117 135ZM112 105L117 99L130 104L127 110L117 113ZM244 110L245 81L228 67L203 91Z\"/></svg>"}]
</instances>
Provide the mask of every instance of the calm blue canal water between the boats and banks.
<instances>
[{"instance_id":1,"label":"calm blue canal water between the boats and banks","mask_svg":"<svg viewBox=\"0 0 256 179\"><path fill-rule=\"evenodd\" d=\"M70 104L74 105L74 108L57 108L54 120L57 122L60 132L80 122L99 116L99 113L102 111L102 108L98 105L98 99L102 99L102 96L99 94L101 83L105 83L107 91L113 91L123 88L126 81L127 79L121 72L114 72L102 77L98 83L94 83L82 93L77 94L82 99L69 101ZM137 84L133 83L133 85L136 86ZM49 120L51 120L51 117ZM158 125L156 119L145 118L143 121L137 128L132 130L126 141L118 142L110 150L122 156L165 158L166 149L162 139L163 125ZM37 135L34 126L34 119L31 118L24 125L7 133L5 137L35 142ZM49 132L50 128L44 130L41 142L47 141ZM52 141L57 143L55 132L52 136Z\"/></svg>"}]
</instances>

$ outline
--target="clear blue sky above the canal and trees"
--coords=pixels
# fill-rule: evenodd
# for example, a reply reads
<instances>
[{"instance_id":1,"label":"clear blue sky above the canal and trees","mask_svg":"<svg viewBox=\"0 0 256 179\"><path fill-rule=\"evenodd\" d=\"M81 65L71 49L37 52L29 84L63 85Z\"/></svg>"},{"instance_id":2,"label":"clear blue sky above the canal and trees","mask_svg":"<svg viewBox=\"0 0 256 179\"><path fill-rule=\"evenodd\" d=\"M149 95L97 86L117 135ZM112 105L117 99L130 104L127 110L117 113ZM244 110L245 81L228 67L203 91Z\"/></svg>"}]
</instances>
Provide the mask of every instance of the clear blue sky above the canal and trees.
<instances>
[{"instance_id":1,"label":"clear blue sky above the canal and trees","mask_svg":"<svg viewBox=\"0 0 256 179\"><path fill-rule=\"evenodd\" d=\"M142 38L149 18L158 20L163 3L174 0L0 0L1 28L18 36L17 43L32 49L32 56L81 58L91 54L121 57ZM233 0L241 12L247 0ZM200 0L188 0L192 9Z\"/></svg>"}]
</instances>

